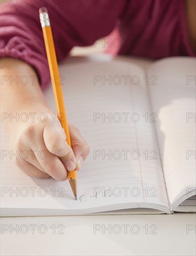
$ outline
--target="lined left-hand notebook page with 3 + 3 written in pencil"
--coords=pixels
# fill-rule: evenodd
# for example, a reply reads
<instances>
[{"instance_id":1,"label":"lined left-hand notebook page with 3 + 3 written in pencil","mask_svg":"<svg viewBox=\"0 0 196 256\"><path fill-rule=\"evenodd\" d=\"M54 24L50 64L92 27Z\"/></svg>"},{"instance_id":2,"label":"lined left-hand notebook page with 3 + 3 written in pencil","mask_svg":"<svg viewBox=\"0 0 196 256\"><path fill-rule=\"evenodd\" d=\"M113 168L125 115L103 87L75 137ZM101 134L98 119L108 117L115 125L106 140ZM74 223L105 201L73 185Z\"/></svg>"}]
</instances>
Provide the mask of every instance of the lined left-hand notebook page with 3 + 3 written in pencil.
<instances>
[{"instance_id":1,"label":"lined left-hand notebook page with 3 + 3 written in pencil","mask_svg":"<svg viewBox=\"0 0 196 256\"><path fill-rule=\"evenodd\" d=\"M29 196L4 193L3 207L66 209L71 214L156 208L155 204L167 209L154 123L146 121L149 116L145 113L149 115L150 109L141 68L118 61L91 61L64 64L59 71L66 78L62 87L68 120L79 128L91 148L82 170L77 172L78 200L73 200L68 181L30 178L4 157L1 186L37 189L30 200ZM128 76L127 81L123 76ZM52 88L46 88L44 94L56 112ZM7 138L1 142L5 148ZM46 195L41 196L45 190Z\"/></svg>"}]
</instances>

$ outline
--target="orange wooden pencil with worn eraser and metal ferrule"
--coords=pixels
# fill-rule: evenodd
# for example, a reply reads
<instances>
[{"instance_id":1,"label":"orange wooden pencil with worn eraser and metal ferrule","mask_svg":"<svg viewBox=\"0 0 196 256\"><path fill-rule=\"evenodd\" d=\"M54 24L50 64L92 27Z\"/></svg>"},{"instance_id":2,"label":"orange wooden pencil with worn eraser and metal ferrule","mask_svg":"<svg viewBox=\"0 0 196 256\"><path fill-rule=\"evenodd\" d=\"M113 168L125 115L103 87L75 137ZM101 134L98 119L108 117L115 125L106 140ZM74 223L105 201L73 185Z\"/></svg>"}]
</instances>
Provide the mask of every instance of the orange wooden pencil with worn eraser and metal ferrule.
<instances>
[{"instance_id":1,"label":"orange wooden pencil with worn eraser and metal ferrule","mask_svg":"<svg viewBox=\"0 0 196 256\"><path fill-rule=\"evenodd\" d=\"M70 139L70 132L68 128L68 122L66 118L66 112L63 102L63 94L61 88L61 81L58 72L58 65L57 65L57 56L53 44L53 36L51 31L50 20L48 16L48 11L46 7L39 8L39 17L42 26L42 32L44 35L44 40L47 42L45 44L46 54L51 74L51 81L52 81L52 88L57 108L57 117L61 123L61 126L64 129L66 135L66 141L68 145L71 147L71 139ZM77 200L77 176L76 170L68 171L68 179L70 182L71 189L74 193L74 197Z\"/></svg>"}]
</instances>

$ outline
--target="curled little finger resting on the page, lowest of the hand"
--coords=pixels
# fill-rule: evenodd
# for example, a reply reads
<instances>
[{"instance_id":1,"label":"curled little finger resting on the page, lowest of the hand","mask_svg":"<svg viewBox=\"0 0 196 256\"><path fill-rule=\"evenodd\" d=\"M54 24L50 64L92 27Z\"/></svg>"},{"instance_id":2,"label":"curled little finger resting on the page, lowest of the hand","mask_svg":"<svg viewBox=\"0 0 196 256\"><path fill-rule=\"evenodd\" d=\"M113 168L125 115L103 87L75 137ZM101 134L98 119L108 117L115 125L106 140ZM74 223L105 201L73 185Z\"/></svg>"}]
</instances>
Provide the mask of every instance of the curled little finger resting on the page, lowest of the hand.
<instances>
[{"instance_id":1,"label":"curled little finger resting on the page, lowest of the hand","mask_svg":"<svg viewBox=\"0 0 196 256\"><path fill-rule=\"evenodd\" d=\"M26 162L25 160L16 160L16 165L27 175L36 177L36 178L49 178L51 177L48 173L44 173L41 170L39 170L37 167L32 165L29 162Z\"/></svg>"}]
</instances>

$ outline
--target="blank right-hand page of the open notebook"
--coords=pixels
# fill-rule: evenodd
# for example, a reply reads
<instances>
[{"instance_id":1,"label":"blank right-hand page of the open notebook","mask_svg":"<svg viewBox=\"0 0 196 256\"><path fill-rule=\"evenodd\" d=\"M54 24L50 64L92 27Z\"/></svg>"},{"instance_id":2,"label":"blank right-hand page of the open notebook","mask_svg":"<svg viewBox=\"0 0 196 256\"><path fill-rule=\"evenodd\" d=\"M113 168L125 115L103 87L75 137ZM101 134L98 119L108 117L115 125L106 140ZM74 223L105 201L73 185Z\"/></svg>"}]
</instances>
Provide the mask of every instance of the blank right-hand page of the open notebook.
<instances>
[{"instance_id":1,"label":"blank right-hand page of the open notebook","mask_svg":"<svg viewBox=\"0 0 196 256\"><path fill-rule=\"evenodd\" d=\"M168 58L152 64L147 74L157 76L157 85L149 86L152 108L158 115L158 143L170 204L179 205L194 195L196 187L196 60Z\"/></svg>"}]
</instances>

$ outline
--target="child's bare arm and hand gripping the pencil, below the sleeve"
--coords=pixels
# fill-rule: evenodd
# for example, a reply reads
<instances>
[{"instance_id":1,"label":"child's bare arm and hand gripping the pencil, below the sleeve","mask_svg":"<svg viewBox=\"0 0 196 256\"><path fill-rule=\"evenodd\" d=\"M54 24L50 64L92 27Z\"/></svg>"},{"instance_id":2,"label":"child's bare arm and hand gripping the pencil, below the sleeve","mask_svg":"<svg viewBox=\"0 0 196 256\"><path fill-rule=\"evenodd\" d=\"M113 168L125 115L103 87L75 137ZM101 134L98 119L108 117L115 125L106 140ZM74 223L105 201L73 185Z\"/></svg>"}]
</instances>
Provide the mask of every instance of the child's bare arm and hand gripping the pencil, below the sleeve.
<instances>
[{"instance_id":1,"label":"child's bare arm and hand gripping the pencil, below the sleeve","mask_svg":"<svg viewBox=\"0 0 196 256\"><path fill-rule=\"evenodd\" d=\"M0 74L1 112L8 115L3 122L10 135L11 150L13 153L16 150L28 152L27 159L15 159L17 166L28 175L65 180L67 171L81 168L83 160L89 155L88 144L78 129L70 124L73 150L68 146L63 128L57 118L54 121L52 110L35 77L36 72L30 65L17 59L2 58ZM27 80L22 84L20 78L24 74ZM35 79L32 80L32 77ZM17 113L19 116L26 113L28 121L15 118L10 121L10 115L16 116ZM31 113L36 113L34 118ZM38 118L40 113L47 116L44 121ZM43 151L45 159L39 155Z\"/></svg>"}]
</instances>

